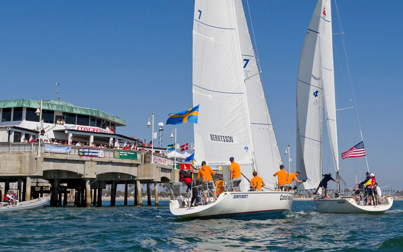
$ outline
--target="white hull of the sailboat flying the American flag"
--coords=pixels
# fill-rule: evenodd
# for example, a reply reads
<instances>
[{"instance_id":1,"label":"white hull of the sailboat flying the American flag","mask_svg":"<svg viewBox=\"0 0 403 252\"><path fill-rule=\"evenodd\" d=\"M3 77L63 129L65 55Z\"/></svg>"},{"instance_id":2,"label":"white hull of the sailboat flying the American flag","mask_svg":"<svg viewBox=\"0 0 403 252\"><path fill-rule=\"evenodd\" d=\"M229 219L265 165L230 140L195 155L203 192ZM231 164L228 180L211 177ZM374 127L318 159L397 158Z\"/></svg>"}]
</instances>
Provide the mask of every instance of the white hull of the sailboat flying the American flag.
<instances>
[{"instance_id":1,"label":"white hull of the sailboat flying the American flag","mask_svg":"<svg viewBox=\"0 0 403 252\"><path fill-rule=\"evenodd\" d=\"M314 199L316 209L320 213L383 213L392 207L393 198L382 199L376 206L359 205L353 198Z\"/></svg>"}]
</instances>

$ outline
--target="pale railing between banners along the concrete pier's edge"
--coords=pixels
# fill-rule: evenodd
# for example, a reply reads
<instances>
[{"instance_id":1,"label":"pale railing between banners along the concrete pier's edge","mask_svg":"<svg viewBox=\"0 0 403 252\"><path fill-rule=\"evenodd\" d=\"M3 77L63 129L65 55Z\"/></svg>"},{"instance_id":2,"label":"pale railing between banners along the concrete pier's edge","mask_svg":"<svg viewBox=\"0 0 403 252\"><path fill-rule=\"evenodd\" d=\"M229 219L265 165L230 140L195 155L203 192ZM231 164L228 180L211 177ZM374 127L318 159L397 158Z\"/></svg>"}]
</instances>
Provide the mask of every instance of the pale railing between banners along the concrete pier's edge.
<instances>
[{"instance_id":1,"label":"pale railing between banners along the concrete pier's edge","mask_svg":"<svg viewBox=\"0 0 403 252\"><path fill-rule=\"evenodd\" d=\"M46 150L45 151L45 145L51 145L51 146L65 146L65 147L70 147L71 151L69 153L67 152L60 152L60 151L52 151L52 150ZM66 154L66 155L74 155L78 156L79 155L79 148L87 148L85 146L74 146L74 145L56 145L56 144L43 144L41 143L40 145L40 152L44 153L57 153L57 154ZM90 147L91 149L102 149L105 151L105 157L114 157L114 151L116 149L105 149L105 148L95 148L95 147ZM120 150L120 149L119 149ZM0 153L23 153L23 152L37 152L38 151L38 143L0 143ZM142 161L143 160L143 155L145 153L141 151L131 151L131 150L120 150L120 151L130 151L130 152L137 152L137 160ZM172 160L170 160L172 162ZM172 164L172 163L171 163Z\"/></svg>"}]
</instances>

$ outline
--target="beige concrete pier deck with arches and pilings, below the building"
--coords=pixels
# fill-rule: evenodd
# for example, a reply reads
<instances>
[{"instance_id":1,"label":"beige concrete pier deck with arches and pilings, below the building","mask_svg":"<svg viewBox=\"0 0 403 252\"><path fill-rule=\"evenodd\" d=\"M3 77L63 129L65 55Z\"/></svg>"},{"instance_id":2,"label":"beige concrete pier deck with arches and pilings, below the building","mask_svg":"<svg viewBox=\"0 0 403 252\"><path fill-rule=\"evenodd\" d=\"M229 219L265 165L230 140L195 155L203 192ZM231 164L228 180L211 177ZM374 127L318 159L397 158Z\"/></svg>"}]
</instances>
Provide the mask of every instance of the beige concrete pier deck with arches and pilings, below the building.
<instances>
[{"instance_id":1,"label":"beige concrete pier deck with arches and pilings, below the building","mask_svg":"<svg viewBox=\"0 0 403 252\"><path fill-rule=\"evenodd\" d=\"M127 205L128 184L135 185L134 205L142 205L141 184L147 185L148 205L151 205L150 188L155 190L158 205L158 183L179 182L179 170L173 169L172 160L152 162L151 153L130 152L136 158L119 158L116 149L102 149L103 157L82 156L80 147L69 146L69 153L46 148L37 143L0 143L0 183L5 190L17 183L21 201L42 197L50 193L50 205L101 206L102 190L111 187L110 205L116 201L117 185L124 185L124 205ZM94 149L94 148L91 148ZM96 148L95 148L96 149ZM3 191L0 198L3 201Z\"/></svg>"}]
</instances>

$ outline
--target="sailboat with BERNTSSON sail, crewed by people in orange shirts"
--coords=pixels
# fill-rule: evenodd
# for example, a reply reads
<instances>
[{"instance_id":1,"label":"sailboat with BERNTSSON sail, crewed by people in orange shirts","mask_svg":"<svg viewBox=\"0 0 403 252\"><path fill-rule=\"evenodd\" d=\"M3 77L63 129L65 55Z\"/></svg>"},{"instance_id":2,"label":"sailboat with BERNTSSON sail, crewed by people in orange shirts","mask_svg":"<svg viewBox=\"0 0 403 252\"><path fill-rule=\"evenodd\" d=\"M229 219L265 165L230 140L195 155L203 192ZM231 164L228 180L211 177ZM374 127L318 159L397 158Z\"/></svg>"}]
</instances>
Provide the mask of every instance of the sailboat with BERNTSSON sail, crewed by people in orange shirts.
<instances>
[{"instance_id":1,"label":"sailboat with BERNTSSON sail, crewed by people in orange shirts","mask_svg":"<svg viewBox=\"0 0 403 252\"><path fill-rule=\"evenodd\" d=\"M252 217L291 209L293 192L276 191L273 174L282 160L260 79L258 60L240 0L196 0L193 18L193 106L196 165L223 167L230 157L241 167L240 192L224 192L209 205L187 207L172 200L171 213L193 217ZM266 184L249 192L252 172Z\"/></svg>"}]
</instances>

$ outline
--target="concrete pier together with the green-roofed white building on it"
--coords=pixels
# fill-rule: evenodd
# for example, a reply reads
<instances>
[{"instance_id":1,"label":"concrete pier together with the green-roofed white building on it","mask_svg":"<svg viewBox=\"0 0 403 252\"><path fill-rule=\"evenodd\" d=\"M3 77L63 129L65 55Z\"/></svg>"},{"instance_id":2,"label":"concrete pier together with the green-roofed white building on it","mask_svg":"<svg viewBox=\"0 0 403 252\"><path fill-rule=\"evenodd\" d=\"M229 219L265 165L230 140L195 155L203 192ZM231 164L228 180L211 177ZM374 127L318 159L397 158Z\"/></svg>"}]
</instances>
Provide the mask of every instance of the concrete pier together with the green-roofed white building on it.
<instances>
[{"instance_id":1,"label":"concrete pier together with the green-roofed white building on it","mask_svg":"<svg viewBox=\"0 0 403 252\"><path fill-rule=\"evenodd\" d=\"M127 186L135 184L134 204L142 204L141 184L147 184L148 189L154 185L158 205L157 184L179 182L172 160L159 155L163 148L154 148L151 155L139 151L135 139L117 133L125 126L123 119L66 102L43 101L40 122L39 106L39 101L25 99L0 101L0 183L6 190L17 183L20 199L50 192L53 206L69 198L78 206L101 206L102 189L110 185L113 206L117 185L123 184L127 205Z\"/></svg>"}]
</instances>

